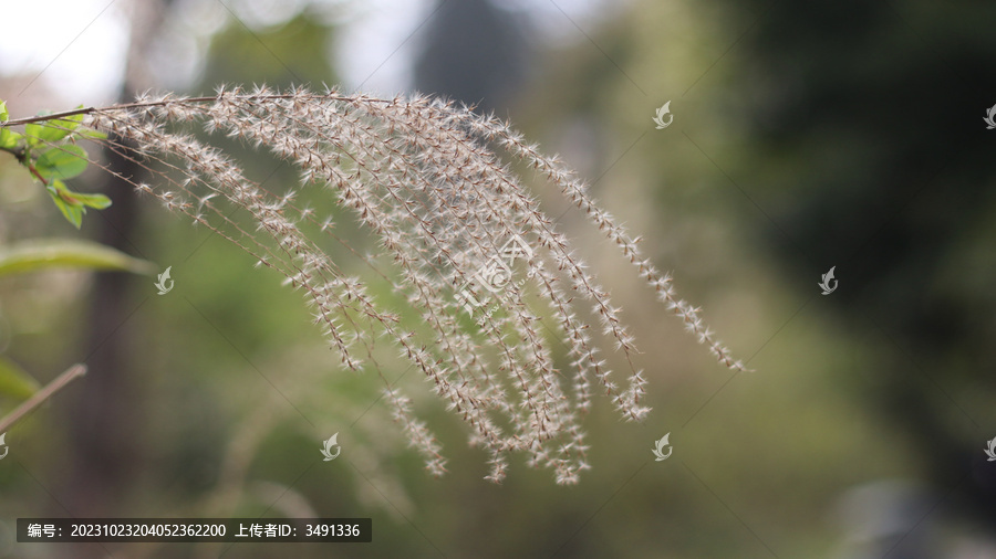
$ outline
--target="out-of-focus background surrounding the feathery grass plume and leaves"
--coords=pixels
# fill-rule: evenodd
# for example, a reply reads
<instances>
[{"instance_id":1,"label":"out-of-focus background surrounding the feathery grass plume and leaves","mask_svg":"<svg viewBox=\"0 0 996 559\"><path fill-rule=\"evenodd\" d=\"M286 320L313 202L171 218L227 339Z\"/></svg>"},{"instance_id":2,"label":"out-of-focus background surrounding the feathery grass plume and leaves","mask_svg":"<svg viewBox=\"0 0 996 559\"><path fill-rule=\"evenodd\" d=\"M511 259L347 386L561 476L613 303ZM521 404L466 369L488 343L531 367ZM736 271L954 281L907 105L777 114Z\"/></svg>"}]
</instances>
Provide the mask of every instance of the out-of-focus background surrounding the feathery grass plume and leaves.
<instances>
[{"instance_id":1,"label":"out-of-focus background surrounding the feathery grass plume and leaves","mask_svg":"<svg viewBox=\"0 0 996 559\"><path fill-rule=\"evenodd\" d=\"M157 296L134 274L0 280L6 360L40 384L91 369L7 434L0 557L996 557L996 4L38 0L0 14L12 117L221 83L417 89L495 112L562 154L754 370L717 365L537 184L623 307L654 411L625 423L596 399L579 485L513 462L496 486L413 375L449 457L434 479L380 381L336 368L281 277L95 170L77 189L114 205L77 232L0 157L0 243L93 239L176 282ZM268 188L295 183L226 147ZM334 432L342 456L322 462ZM673 455L655 462L665 433ZM42 516L372 517L374 541L13 541L18 517Z\"/></svg>"}]
</instances>

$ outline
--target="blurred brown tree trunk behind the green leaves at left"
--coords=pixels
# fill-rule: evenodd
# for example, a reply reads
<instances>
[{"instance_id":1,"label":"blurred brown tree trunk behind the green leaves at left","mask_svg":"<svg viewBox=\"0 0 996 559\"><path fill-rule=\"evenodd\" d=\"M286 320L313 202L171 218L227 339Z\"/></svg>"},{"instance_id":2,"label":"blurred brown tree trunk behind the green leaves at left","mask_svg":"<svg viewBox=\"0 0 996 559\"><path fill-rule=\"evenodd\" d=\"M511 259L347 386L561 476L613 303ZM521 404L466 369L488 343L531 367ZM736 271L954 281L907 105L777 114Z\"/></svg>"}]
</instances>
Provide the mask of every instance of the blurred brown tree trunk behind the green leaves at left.
<instances>
[{"instance_id":1,"label":"blurred brown tree trunk behind the green leaves at left","mask_svg":"<svg viewBox=\"0 0 996 559\"><path fill-rule=\"evenodd\" d=\"M129 99L136 91L153 84L145 72L148 46L159 31L164 13L172 0L133 2L131 43L120 101ZM104 159L116 173L141 180L144 169L125 157L105 150ZM137 198L124 180L108 177L103 192L113 205L90 214L101 243L141 256L133 243L139 223ZM71 465L68 487L61 493L63 504L75 516L118 516L126 498L129 481L142 464L141 425L144 390L141 363L135 363L128 320L141 306L141 299L128 297L136 276L124 273L98 273L94 277L93 296L86 324L90 326L86 363L90 373L80 383L76 399L69 408ZM63 513L63 511L61 511ZM100 546L76 546L73 557L104 555Z\"/></svg>"}]
</instances>

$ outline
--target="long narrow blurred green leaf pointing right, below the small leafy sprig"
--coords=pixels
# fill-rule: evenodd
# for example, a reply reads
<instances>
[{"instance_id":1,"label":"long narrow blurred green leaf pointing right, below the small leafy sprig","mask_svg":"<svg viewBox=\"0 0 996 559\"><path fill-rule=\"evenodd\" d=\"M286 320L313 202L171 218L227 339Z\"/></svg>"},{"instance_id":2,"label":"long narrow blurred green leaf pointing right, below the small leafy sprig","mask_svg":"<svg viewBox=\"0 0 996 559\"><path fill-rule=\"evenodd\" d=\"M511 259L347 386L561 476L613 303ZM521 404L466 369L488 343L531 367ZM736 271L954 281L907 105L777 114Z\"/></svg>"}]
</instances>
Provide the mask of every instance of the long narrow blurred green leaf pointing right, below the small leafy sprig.
<instances>
[{"instance_id":1,"label":"long narrow blurred green leaf pointing right, below the small leafy sprig","mask_svg":"<svg viewBox=\"0 0 996 559\"><path fill-rule=\"evenodd\" d=\"M86 267L153 275L156 265L91 241L40 239L0 249L0 276L48 267Z\"/></svg>"}]
</instances>

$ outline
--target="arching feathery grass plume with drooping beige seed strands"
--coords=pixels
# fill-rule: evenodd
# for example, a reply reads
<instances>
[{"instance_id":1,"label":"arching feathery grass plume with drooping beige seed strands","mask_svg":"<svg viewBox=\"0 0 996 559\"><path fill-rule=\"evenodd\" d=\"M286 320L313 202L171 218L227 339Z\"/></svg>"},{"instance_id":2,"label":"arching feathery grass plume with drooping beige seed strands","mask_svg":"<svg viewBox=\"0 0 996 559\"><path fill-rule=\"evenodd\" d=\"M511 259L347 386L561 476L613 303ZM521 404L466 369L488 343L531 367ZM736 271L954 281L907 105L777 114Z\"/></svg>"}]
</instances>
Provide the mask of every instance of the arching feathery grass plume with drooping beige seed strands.
<instances>
[{"instance_id":1,"label":"arching feathery grass plume with drooping beige seed strands","mask_svg":"<svg viewBox=\"0 0 996 559\"><path fill-rule=\"evenodd\" d=\"M469 425L471 443L491 455L488 478L495 482L504 478L511 452L552 468L558 483L578 482L589 467L580 414L590 405L593 382L625 419L641 421L650 411L641 403L646 381L631 360L634 340L619 309L495 150L558 188L719 362L744 370L698 310L677 297L671 277L641 256L637 239L589 198L582 181L492 116L424 96L380 99L258 87L219 88L212 97L145 96L6 126L81 115L84 126L107 135L93 141L149 170L154 180L135 184L138 190L217 231L304 292L342 365L383 379L385 401L433 474L445 471L442 449L382 373L374 350L384 344ZM300 170L302 186L271 194L231 157L184 131L188 124L269 150ZM137 152L124 141L138 146ZM408 313L385 308L366 281L345 274L320 247L317 235L334 236L336 218L299 203L315 196L332 197L375 235L390 259L361 257L404 297ZM248 214L253 226L241 225L232 209ZM546 308L536 308L536 300ZM587 316L627 362L622 383L600 357L579 304L591 307ZM571 375L553 365L542 316L552 318L548 326L568 348Z\"/></svg>"}]
</instances>

